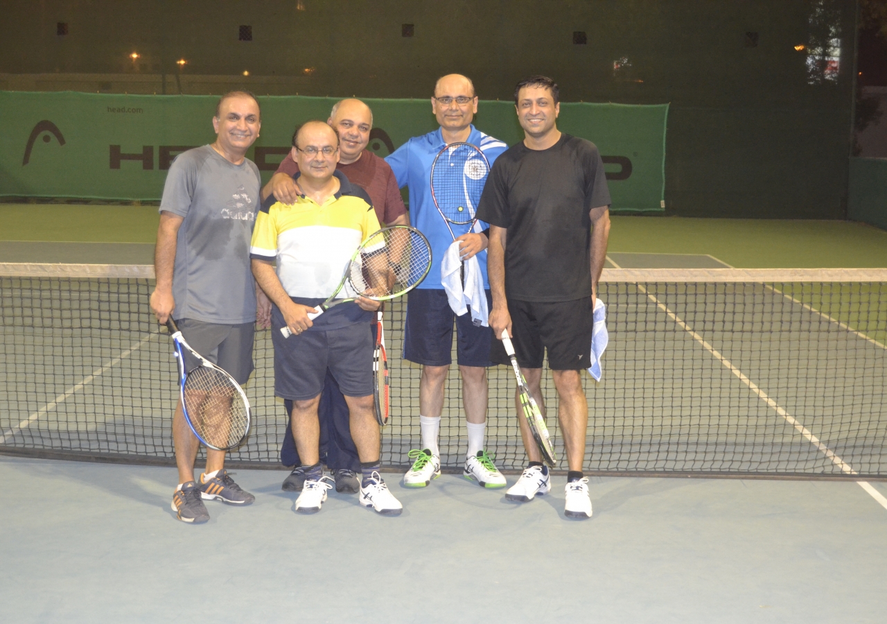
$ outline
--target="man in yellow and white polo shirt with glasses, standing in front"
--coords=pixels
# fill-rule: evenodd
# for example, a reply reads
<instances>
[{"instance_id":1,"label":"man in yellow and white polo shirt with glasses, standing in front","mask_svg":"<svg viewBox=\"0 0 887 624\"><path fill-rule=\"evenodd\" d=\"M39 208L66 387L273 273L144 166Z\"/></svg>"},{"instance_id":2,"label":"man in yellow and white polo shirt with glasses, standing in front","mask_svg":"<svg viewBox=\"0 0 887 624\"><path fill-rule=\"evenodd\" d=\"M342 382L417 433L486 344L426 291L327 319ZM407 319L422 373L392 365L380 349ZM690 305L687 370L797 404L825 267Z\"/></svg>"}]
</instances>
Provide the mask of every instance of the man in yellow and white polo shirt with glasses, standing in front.
<instances>
[{"instance_id":1,"label":"man in yellow and white polo shirt with glasses, standing in front","mask_svg":"<svg viewBox=\"0 0 887 624\"><path fill-rule=\"evenodd\" d=\"M328 367L349 407L363 473L360 502L381 514L397 515L403 507L379 474L380 430L373 415L370 320L379 302L358 297L313 322L308 318L335 292L349 260L361 241L379 229L379 220L365 190L335 170L335 130L325 122L306 122L296 129L293 145L303 194L293 204L281 203L273 194L262 202L250 257L255 280L274 304L274 391L293 401L293 437L306 474L295 510L319 511L333 486L319 456L318 402ZM277 271L271 265L275 259ZM292 332L287 338L280 333L285 326Z\"/></svg>"}]
</instances>

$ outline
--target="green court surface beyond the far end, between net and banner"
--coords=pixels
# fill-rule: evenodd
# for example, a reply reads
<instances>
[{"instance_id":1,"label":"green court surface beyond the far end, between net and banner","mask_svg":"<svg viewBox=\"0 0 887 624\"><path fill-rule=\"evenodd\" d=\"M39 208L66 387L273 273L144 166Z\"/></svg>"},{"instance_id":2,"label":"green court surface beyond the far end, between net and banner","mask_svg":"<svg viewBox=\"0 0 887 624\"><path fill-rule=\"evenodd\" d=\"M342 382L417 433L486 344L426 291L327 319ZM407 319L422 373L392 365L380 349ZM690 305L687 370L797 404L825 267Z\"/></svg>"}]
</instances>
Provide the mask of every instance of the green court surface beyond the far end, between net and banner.
<instances>
[{"instance_id":1,"label":"green court surface beyond the far end, between net and banner","mask_svg":"<svg viewBox=\"0 0 887 624\"><path fill-rule=\"evenodd\" d=\"M611 253L709 254L742 268L884 267L887 232L850 221L612 217ZM153 243L156 206L0 204L0 240Z\"/></svg>"}]
</instances>

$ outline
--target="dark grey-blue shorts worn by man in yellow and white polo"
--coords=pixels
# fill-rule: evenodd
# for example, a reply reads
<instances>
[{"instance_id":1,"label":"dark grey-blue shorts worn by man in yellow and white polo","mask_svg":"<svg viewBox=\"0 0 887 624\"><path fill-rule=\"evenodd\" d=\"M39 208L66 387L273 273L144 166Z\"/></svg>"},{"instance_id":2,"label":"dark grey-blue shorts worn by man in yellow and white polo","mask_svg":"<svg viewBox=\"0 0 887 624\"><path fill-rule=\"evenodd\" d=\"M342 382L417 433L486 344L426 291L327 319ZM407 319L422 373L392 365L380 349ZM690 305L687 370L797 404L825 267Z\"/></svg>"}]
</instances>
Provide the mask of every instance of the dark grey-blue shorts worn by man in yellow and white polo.
<instances>
[{"instance_id":1,"label":"dark grey-blue shorts worn by man in yellow and white polo","mask_svg":"<svg viewBox=\"0 0 887 624\"><path fill-rule=\"evenodd\" d=\"M282 319L282 317L281 317ZM281 399L314 399L324 389L326 369L347 397L373 394L373 331L355 323L326 331L306 331L284 338L272 317L274 394Z\"/></svg>"}]
</instances>

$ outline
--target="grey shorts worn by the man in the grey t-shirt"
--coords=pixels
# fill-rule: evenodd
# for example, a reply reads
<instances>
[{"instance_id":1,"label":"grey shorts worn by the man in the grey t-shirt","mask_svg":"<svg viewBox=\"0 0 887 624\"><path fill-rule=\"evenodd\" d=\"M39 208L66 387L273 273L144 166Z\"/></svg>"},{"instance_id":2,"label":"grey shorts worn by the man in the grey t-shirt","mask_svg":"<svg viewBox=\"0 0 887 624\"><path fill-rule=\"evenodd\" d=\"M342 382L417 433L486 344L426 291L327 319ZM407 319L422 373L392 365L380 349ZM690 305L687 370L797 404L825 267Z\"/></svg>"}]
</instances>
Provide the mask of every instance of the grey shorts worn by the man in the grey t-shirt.
<instances>
[{"instance_id":1,"label":"grey shorts worn by the man in the grey t-shirt","mask_svg":"<svg viewBox=\"0 0 887 624\"><path fill-rule=\"evenodd\" d=\"M234 381L243 385L253 372L253 338L255 323L220 325L202 320L177 319L176 325L191 345L204 358L222 368ZM200 360L184 350L184 368L190 371Z\"/></svg>"}]
</instances>

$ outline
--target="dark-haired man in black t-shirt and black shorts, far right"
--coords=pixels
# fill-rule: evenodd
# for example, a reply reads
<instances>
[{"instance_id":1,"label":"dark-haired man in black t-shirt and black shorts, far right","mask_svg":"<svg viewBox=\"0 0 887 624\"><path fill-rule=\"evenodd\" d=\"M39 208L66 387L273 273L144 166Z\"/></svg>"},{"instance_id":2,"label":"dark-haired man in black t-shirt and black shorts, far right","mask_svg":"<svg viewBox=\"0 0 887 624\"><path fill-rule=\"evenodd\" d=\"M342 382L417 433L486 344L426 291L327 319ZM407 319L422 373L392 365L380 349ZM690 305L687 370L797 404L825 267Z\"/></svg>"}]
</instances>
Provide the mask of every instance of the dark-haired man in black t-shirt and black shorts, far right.
<instances>
[{"instance_id":1,"label":"dark-haired man in black t-shirt and black shorts, far right","mask_svg":"<svg viewBox=\"0 0 887 624\"><path fill-rule=\"evenodd\" d=\"M607 180L598 148L557 129L560 104L553 80L541 75L522 80L514 104L524 139L493 163L477 209L491 225L490 325L497 338L506 329L512 336L543 415L539 383L548 350L569 464L565 513L591 517L582 474L588 405L580 375L591 365L594 301L607 254ZM501 340L493 341L490 359L510 364ZM515 402L521 414L516 396ZM526 419L519 422L530 463L506 498L529 502L551 490L551 483Z\"/></svg>"}]
</instances>

